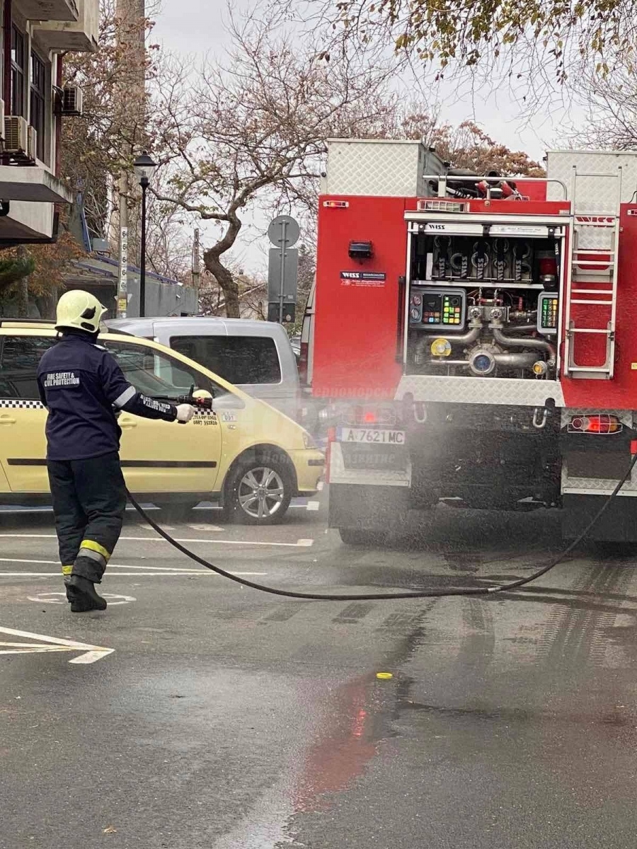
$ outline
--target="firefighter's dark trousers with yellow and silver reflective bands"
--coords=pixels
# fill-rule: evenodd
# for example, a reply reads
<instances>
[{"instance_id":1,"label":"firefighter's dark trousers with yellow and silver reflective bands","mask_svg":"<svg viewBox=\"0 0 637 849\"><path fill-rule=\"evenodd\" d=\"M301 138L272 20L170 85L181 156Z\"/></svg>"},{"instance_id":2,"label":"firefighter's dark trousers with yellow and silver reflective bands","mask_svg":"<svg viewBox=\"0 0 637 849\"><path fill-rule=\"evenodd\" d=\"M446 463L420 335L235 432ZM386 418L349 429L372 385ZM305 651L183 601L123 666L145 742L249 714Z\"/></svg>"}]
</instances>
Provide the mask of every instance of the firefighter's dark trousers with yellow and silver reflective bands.
<instances>
[{"instance_id":1,"label":"firefighter's dark trousers with yellow and silver reflective bands","mask_svg":"<svg viewBox=\"0 0 637 849\"><path fill-rule=\"evenodd\" d=\"M59 559L71 575L99 583L116 547L127 494L117 452L84 460L48 460Z\"/></svg>"}]
</instances>

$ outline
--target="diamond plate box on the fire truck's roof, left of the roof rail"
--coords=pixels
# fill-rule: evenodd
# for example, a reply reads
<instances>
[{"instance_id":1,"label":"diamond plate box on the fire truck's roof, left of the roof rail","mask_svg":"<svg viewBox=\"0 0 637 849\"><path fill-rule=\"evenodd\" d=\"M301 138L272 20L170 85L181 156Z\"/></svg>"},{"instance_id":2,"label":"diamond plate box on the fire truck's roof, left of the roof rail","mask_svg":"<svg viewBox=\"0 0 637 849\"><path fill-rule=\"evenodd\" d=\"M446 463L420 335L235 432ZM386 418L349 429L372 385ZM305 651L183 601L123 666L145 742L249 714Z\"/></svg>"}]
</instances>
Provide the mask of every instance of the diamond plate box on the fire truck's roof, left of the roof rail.
<instances>
[{"instance_id":1,"label":"diamond plate box on the fire truck's roof, left of the roof rail","mask_svg":"<svg viewBox=\"0 0 637 849\"><path fill-rule=\"evenodd\" d=\"M414 142L337 139L328 142L325 194L423 197L431 194L422 177L443 165L425 145Z\"/></svg>"}]
</instances>

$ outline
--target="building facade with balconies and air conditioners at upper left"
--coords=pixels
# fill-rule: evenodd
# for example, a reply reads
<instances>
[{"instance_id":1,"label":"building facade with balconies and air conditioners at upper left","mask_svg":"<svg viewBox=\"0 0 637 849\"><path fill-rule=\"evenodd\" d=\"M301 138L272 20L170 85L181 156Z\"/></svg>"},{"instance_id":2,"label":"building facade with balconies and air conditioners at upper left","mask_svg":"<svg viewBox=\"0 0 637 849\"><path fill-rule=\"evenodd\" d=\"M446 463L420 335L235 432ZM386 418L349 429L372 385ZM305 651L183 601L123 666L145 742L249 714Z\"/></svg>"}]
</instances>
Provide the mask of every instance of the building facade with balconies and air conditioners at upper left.
<instances>
[{"instance_id":1,"label":"building facade with balconies and air conditioners at upper left","mask_svg":"<svg viewBox=\"0 0 637 849\"><path fill-rule=\"evenodd\" d=\"M98 48L99 0L0 0L0 248L55 239L61 121L82 112L63 87L67 51Z\"/></svg>"}]
</instances>

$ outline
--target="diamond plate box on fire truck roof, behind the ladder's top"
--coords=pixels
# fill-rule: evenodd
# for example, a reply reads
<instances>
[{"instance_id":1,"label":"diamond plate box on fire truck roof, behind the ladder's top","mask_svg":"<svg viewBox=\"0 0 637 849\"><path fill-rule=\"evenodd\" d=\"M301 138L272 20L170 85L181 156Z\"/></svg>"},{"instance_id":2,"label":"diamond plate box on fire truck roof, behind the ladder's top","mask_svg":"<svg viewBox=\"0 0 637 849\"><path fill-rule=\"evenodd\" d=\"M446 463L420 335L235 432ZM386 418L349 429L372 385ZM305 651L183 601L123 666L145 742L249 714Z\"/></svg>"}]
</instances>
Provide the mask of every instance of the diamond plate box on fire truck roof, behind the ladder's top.
<instances>
[{"instance_id":1,"label":"diamond plate box on fire truck roof, behind the ladder's top","mask_svg":"<svg viewBox=\"0 0 637 849\"><path fill-rule=\"evenodd\" d=\"M580 174L604 174L607 177L578 176L575 193L576 215L617 214L619 198L617 168L622 166L621 202L626 204L637 190L637 154L605 150L552 150L547 154L547 174L551 179L566 183L569 200L573 194L573 166ZM608 177L615 177L609 179ZM561 187L549 183L548 200L561 200ZM585 247L588 245L580 245ZM597 245L592 245L596 247Z\"/></svg>"}]
</instances>

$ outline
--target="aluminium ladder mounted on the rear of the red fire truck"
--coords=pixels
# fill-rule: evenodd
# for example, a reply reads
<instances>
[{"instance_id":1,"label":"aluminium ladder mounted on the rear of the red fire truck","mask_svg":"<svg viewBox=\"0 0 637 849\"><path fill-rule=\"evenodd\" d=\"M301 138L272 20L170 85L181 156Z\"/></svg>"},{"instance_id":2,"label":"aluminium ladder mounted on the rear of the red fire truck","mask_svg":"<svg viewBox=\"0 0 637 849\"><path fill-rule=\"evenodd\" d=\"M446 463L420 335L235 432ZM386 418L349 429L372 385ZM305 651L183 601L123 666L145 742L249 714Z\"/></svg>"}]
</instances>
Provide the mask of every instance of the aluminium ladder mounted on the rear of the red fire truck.
<instances>
[{"instance_id":1,"label":"aluminium ladder mounted on the rear of the red fire truck","mask_svg":"<svg viewBox=\"0 0 637 849\"><path fill-rule=\"evenodd\" d=\"M619 211L622 201L622 166L615 174L578 173L572 166L572 247L571 273L567 273L566 338L564 374L570 378L611 380L615 361L615 319L617 312L617 257ZM612 212L578 212L578 181L605 179L617 188ZM580 247L580 245L586 245ZM586 310L586 307L592 309ZM585 318L577 314L585 313ZM586 326L582 325L582 320ZM595 336L606 341L604 361L578 363L582 342ZM579 346L576 341L581 340Z\"/></svg>"}]
</instances>

